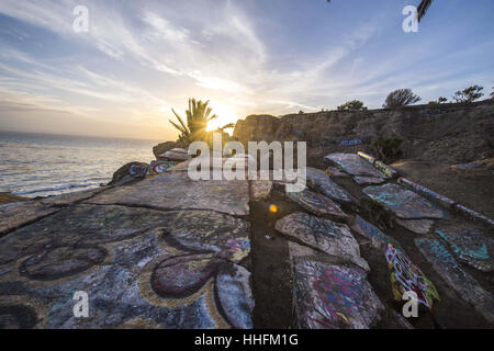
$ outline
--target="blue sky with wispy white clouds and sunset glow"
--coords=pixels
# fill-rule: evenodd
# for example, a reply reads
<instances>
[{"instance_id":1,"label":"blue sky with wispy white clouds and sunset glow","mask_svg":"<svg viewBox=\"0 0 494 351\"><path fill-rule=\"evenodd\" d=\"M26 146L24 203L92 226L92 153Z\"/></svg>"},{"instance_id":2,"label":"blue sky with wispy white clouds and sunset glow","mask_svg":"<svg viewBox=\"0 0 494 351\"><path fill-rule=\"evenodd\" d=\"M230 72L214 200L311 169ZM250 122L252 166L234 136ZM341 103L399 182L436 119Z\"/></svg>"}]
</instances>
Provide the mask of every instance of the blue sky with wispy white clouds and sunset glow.
<instances>
[{"instance_id":1,"label":"blue sky with wispy white clouds and sunset glow","mask_svg":"<svg viewBox=\"0 0 494 351\"><path fill-rule=\"evenodd\" d=\"M353 99L379 109L400 88L489 95L494 1L435 1L405 33L418 2L1 0L0 131L172 140L189 98L210 100L216 127Z\"/></svg>"}]
</instances>

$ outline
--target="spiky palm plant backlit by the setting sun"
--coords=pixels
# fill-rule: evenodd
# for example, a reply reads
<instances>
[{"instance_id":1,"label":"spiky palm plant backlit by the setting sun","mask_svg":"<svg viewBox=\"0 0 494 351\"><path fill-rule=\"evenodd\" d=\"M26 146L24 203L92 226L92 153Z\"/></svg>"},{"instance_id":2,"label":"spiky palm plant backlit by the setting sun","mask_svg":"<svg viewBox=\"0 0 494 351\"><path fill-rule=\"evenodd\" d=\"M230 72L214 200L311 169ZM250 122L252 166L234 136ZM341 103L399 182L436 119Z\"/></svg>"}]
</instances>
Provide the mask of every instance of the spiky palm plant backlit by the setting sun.
<instances>
[{"instance_id":1,"label":"spiky palm plant backlit by the setting sun","mask_svg":"<svg viewBox=\"0 0 494 351\"><path fill-rule=\"evenodd\" d=\"M202 102L201 100L195 101L195 99L189 99L189 110L186 111L187 123L180 117L180 115L173 112L175 116L178 120L178 124L173 121L169 121L173 127L176 127L179 132L179 140L183 143L192 143L194 140L204 140L206 138L206 127L207 123L217 116L211 114L211 107L207 107L210 101Z\"/></svg>"}]
</instances>

